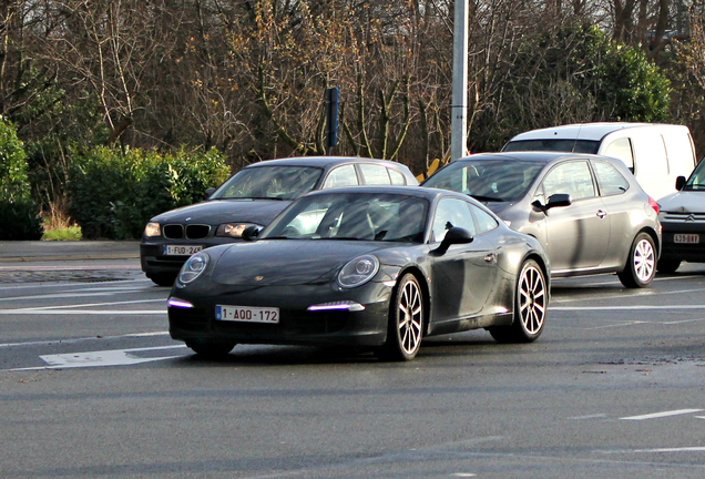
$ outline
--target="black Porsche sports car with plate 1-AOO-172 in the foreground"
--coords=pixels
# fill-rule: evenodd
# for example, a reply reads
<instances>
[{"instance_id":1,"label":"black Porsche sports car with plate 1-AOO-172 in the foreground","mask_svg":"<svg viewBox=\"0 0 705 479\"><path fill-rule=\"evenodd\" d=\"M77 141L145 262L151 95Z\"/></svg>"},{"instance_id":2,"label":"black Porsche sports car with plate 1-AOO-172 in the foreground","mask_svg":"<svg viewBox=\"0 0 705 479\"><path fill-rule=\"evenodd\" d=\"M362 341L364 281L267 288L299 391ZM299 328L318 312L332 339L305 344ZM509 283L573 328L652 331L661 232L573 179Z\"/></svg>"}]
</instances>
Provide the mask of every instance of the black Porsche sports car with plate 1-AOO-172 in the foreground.
<instances>
[{"instance_id":1,"label":"black Porsche sports car with plate 1-AOO-172 in the foreground","mask_svg":"<svg viewBox=\"0 0 705 479\"><path fill-rule=\"evenodd\" d=\"M541 245L461 193L313 192L244 238L191 256L172 287L171 336L198 354L349 345L409 360L426 336L486 328L532 342L544 327Z\"/></svg>"}]
</instances>

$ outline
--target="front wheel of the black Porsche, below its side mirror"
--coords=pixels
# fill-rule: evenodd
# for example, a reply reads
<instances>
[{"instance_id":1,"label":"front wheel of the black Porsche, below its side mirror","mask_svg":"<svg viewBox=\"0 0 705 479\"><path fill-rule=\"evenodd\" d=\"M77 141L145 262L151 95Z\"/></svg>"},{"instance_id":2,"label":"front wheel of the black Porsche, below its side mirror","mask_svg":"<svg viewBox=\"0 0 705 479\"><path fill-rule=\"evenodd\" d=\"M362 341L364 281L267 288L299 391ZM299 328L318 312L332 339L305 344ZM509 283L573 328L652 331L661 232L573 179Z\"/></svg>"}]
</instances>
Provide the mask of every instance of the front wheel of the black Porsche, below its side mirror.
<instances>
[{"instance_id":1,"label":"front wheel of the black Porsche, below its side mirror","mask_svg":"<svg viewBox=\"0 0 705 479\"><path fill-rule=\"evenodd\" d=\"M387 343L377 351L380 359L405 361L416 357L423 337L423 306L421 285L416 276L407 273L394 294Z\"/></svg>"}]
</instances>

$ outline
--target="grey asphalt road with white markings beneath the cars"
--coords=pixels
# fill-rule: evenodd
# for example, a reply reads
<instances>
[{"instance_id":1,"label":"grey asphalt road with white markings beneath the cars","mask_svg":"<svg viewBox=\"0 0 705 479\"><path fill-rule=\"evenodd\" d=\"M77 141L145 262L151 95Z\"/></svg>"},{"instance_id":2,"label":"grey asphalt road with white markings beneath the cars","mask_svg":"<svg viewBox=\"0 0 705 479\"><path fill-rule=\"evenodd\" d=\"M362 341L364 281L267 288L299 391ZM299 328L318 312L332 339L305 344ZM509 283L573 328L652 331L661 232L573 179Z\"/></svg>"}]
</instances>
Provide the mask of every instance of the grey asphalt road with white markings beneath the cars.
<instances>
[{"instance_id":1,"label":"grey asphalt road with white markings beneath the cars","mask_svg":"<svg viewBox=\"0 0 705 479\"><path fill-rule=\"evenodd\" d=\"M705 477L705 265L555 281L534 344L471 332L387 364L201 359L137 259L51 259L0 258L2 478Z\"/></svg>"}]
</instances>

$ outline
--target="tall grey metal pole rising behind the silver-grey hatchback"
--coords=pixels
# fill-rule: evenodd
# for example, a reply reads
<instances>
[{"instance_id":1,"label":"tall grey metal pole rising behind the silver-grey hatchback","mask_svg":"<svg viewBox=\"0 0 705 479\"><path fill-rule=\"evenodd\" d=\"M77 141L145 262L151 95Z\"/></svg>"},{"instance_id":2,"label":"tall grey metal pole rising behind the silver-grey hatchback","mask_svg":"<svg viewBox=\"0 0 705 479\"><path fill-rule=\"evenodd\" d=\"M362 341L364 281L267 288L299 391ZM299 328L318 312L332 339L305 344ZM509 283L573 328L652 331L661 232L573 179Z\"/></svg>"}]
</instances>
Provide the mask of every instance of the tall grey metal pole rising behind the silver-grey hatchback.
<instances>
[{"instance_id":1,"label":"tall grey metal pole rising behind the silver-grey hatchback","mask_svg":"<svg viewBox=\"0 0 705 479\"><path fill-rule=\"evenodd\" d=\"M469 0L456 0L450 161L468 154L468 10Z\"/></svg>"}]
</instances>

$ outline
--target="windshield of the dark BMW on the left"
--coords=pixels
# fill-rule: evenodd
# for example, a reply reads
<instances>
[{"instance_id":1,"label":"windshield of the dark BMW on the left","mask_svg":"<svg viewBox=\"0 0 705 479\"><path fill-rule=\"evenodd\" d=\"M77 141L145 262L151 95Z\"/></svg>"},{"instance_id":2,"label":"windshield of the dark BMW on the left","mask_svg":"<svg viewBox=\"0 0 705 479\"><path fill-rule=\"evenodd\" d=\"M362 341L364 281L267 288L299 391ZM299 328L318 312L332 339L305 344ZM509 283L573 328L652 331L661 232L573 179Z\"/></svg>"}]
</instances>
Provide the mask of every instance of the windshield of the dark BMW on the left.
<instances>
[{"instance_id":1,"label":"windshield of the dark BMW on the left","mask_svg":"<svg viewBox=\"0 0 705 479\"><path fill-rule=\"evenodd\" d=\"M211 200L295 200L316 186L323 170L313 166L244 169L217 188Z\"/></svg>"}]
</instances>

